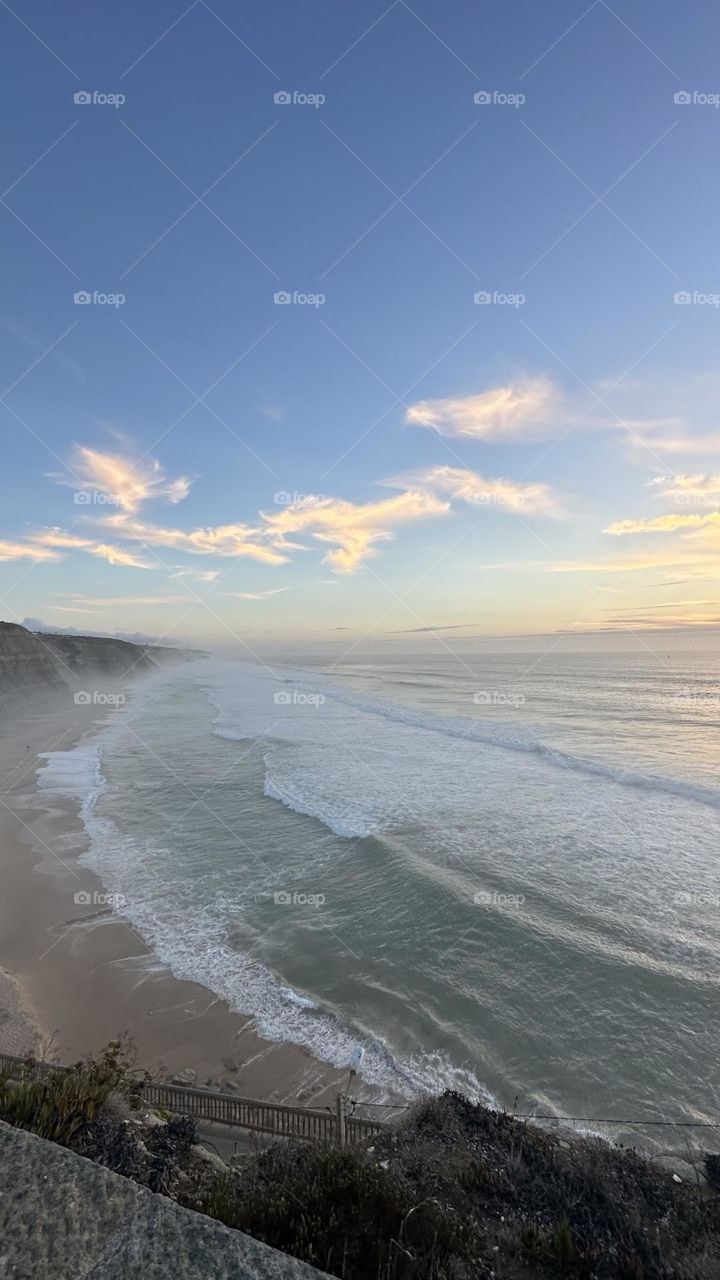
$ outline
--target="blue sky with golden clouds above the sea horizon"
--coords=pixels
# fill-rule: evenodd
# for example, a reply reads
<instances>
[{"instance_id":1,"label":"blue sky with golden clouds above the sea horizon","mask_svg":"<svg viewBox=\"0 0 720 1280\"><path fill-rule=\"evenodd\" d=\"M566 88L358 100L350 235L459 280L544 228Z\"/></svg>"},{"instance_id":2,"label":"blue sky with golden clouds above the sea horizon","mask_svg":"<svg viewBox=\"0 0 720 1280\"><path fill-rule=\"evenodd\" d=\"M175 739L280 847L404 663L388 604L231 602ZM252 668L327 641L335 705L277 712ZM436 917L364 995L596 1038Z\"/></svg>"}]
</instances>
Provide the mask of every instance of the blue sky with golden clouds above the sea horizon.
<instances>
[{"instance_id":1,"label":"blue sky with golden clouds above the sea horizon","mask_svg":"<svg viewBox=\"0 0 720 1280\"><path fill-rule=\"evenodd\" d=\"M720 623L715 4L0 0L0 32L3 618Z\"/></svg>"}]
</instances>

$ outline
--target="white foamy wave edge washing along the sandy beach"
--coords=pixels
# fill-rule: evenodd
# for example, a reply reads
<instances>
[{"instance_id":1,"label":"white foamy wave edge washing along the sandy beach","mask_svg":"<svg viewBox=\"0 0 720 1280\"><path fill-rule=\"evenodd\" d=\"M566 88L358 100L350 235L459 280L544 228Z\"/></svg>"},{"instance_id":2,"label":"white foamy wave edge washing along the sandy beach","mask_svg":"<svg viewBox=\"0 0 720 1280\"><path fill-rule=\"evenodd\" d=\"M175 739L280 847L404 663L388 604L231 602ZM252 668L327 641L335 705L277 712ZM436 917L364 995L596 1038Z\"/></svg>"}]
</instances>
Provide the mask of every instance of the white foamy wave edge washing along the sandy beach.
<instances>
[{"instance_id":1,"label":"white foamy wave edge washing along the sandy beach","mask_svg":"<svg viewBox=\"0 0 720 1280\"><path fill-rule=\"evenodd\" d=\"M457 1089L475 1101L497 1105L471 1070L455 1068L438 1052L396 1059L379 1037L354 1030L254 956L236 950L228 941L228 924L237 904L224 895L205 904L193 900L192 886L184 896L168 895L167 860L152 858L150 845L141 846L99 813L99 801L108 792L102 740L69 751L46 751L42 759L38 785L45 796L79 801L88 837L79 863L100 877L111 895L113 911L132 925L176 978L200 983L232 1010L249 1016L264 1039L302 1046L334 1068L347 1068L361 1046L365 1053L359 1074L383 1097L411 1100Z\"/></svg>"}]
</instances>

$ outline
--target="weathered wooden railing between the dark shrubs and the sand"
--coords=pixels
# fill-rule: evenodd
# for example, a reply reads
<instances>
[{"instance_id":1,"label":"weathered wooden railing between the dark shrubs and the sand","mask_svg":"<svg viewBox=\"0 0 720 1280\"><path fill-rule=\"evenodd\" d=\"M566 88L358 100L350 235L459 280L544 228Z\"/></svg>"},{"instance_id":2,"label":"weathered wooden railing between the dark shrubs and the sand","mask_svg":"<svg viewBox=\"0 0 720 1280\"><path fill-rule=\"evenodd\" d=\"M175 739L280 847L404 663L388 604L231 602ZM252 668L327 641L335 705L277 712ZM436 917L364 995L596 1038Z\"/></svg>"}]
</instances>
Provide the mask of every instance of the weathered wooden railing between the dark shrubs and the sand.
<instances>
[{"instance_id":1,"label":"weathered wooden railing between the dark shrubs and the sand","mask_svg":"<svg viewBox=\"0 0 720 1280\"><path fill-rule=\"evenodd\" d=\"M47 1073L68 1070L67 1066L0 1053L0 1070L15 1071L18 1069L22 1069L26 1078L29 1074L33 1079ZM386 1128L379 1120L348 1116L342 1096L338 1096L334 1111L322 1111L313 1107L293 1107L284 1102L240 1098L233 1093L215 1093L213 1089L197 1089L184 1084L138 1080L138 1085L141 1097L151 1107L170 1111L174 1115L193 1116L196 1120L206 1120L211 1124L227 1124L255 1133L270 1133L277 1138L300 1138L346 1146L346 1143L363 1142Z\"/></svg>"}]
</instances>

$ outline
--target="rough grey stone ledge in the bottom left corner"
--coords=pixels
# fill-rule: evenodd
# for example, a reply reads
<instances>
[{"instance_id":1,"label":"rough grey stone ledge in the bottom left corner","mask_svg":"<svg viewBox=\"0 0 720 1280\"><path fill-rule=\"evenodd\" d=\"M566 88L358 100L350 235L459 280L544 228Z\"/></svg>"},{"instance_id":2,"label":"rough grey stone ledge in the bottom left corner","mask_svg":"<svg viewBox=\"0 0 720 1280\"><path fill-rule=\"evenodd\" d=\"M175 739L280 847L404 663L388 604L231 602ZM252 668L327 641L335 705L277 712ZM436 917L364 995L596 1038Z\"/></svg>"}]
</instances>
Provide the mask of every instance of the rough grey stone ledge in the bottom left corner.
<instances>
[{"instance_id":1,"label":"rough grey stone ledge in the bottom left corner","mask_svg":"<svg viewBox=\"0 0 720 1280\"><path fill-rule=\"evenodd\" d=\"M0 1121L3 1280L322 1280L284 1253Z\"/></svg>"}]
</instances>

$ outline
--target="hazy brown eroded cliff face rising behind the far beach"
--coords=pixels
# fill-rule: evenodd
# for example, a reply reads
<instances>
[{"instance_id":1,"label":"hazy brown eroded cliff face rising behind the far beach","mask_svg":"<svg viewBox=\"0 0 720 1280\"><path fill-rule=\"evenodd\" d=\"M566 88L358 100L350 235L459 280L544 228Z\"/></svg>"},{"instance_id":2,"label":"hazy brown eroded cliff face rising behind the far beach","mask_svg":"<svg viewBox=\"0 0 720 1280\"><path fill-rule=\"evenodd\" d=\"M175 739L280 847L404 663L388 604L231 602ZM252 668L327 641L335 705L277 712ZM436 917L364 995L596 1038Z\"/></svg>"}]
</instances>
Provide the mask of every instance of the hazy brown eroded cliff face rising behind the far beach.
<instances>
[{"instance_id":1,"label":"hazy brown eroded cliff face rising behind the far beach","mask_svg":"<svg viewBox=\"0 0 720 1280\"><path fill-rule=\"evenodd\" d=\"M85 676L132 680L165 662L193 657L182 649L129 644L100 636L36 635L14 622L0 622L0 712L19 703L76 689Z\"/></svg>"}]
</instances>

